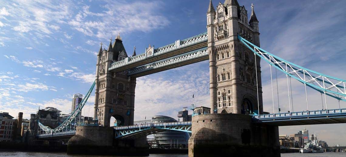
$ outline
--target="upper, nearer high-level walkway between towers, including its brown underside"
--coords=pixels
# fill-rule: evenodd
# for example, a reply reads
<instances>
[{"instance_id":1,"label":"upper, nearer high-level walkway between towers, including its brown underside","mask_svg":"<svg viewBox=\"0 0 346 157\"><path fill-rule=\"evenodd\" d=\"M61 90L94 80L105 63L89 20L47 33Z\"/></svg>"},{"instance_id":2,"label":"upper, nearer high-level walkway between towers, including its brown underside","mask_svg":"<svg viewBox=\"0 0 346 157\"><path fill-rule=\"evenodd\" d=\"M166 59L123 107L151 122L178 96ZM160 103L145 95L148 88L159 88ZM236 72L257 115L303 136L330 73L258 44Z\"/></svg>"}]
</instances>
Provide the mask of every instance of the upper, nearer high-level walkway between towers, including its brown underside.
<instances>
[{"instance_id":1,"label":"upper, nearer high-level walkway between towers, including its brown underside","mask_svg":"<svg viewBox=\"0 0 346 157\"><path fill-rule=\"evenodd\" d=\"M112 72L120 72L207 46L208 35L207 32L204 32L200 35L184 40L177 40L169 45L154 49L152 54L145 52L137 56L127 57L124 60L113 62L108 70Z\"/></svg>"}]
</instances>

